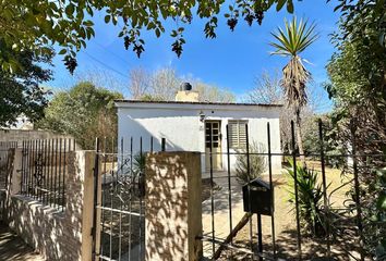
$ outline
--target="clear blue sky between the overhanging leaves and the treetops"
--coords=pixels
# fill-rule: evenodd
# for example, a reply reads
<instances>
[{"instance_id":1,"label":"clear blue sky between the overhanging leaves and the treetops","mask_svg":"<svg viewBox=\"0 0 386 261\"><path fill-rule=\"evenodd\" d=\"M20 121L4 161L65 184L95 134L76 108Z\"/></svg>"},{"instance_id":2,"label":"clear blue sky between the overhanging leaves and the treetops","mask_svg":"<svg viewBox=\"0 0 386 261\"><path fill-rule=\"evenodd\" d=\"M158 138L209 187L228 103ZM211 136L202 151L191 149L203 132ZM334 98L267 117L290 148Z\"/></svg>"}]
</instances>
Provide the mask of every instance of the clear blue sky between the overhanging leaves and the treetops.
<instances>
[{"instance_id":1,"label":"clear blue sky between the overhanging leaves and the treetops","mask_svg":"<svg viewBox=\"0 0 386 261\"><path fill-rule=\"evenodd\" d=\"M326 3L326 0L294 1L295 15L317 23L319 39L311 46L302 57L311 62L306 67L312 72L314 85L322 91L321 85L327 79L325 65L334 52L329 35L337 28L339 13L334 12L336 1ZM123 48L121 38L118 38L119 28L104 23L104 15L96 14L96 37L87 42L87 49L79 53L77 75L92 71L102 71L113 77L122 86L129 82L129 71L142 66L154 71L165 66L172 66L180 76L193 76L201 80L227 88L242 96L253 88L254 79L264 71L281 70L288 61L286 58L270 55L273 48L270 32L282 26L284 18L291 15L284 9L276 12L274 9L265 14L263 24L249 27L240 21L234 32L230 32L226 20L220 18L217 28L217 38L206 39L203 33L204 21L195 17L185 28L186 45L180 59L170 50L172 38L167 34L156 38L153 33L145 33L145 52L140 59L132 51ZM55 89L68 88L76 82L62 65L60 57L53 60L53 77L48 83ZM120 89L119 84L116 89ZM125 92L125 89L121 89ZM328 102L324 96L321 110L328 110Z\"/></svg>"}]
</instances>

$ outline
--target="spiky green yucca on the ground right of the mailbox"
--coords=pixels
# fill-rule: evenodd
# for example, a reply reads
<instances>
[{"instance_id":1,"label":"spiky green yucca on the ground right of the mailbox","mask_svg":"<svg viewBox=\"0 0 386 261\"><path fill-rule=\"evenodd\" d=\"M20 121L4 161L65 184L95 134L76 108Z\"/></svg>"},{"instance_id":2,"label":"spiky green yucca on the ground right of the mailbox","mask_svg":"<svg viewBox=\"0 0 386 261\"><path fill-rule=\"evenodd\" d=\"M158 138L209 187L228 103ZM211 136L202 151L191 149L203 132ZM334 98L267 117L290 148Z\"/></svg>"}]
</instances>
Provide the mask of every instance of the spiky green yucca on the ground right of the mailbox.
<instances>
[{"instance_id":1,"label":"spiky green yucca on the ground right of the mailbox","mask_svg":"<svg viewBox=\"0 0 386 261\"><path fill-rule=\"evenodd\" d=\"M323 187L317 181L317 172L309 170L303 165L298 164L297 181L298 181L298 201L299 201L299 217L302 228L313 235L323 236L325 229L325 210L323 202ZM290 162L290 167L287 167L289 175L289 202L293 204L295 211L295 194L294 194L294 165Z\"/></svg>"}]
</instances>

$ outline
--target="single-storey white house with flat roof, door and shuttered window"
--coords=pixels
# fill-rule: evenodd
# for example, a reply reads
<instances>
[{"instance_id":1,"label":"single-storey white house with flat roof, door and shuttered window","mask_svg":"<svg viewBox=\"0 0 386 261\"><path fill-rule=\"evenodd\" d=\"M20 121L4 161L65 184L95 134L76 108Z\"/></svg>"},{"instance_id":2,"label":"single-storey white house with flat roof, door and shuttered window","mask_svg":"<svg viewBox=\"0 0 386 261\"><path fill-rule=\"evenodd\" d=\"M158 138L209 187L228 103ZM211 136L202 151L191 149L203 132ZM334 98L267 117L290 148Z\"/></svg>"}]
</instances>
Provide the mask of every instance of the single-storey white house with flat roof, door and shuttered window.
<instances>
[{"instance_id":1,"label":"single-storey white house with flat roof, door and shuttered window","mask_svg":"<svg viewBox=\"0 0 386 261\"><path fill-rule=\"evenodd\" d=\"M236 150L245 147L245 124L249 140L261 144L267 150L267 123L270 125L272 152L280 152L279 113L281 105L250 103L198 102L198 94L191 88L180 90L176 101L117 100L118 138L123 139L123 150L133 151L202 152L202 170L209 167L209 150L213 150L213 167L227 171L227 125L229 126L229 151L231 169ZM273 157L273 169L281 167L281 158Z\"/></svg>"}]
</instances>

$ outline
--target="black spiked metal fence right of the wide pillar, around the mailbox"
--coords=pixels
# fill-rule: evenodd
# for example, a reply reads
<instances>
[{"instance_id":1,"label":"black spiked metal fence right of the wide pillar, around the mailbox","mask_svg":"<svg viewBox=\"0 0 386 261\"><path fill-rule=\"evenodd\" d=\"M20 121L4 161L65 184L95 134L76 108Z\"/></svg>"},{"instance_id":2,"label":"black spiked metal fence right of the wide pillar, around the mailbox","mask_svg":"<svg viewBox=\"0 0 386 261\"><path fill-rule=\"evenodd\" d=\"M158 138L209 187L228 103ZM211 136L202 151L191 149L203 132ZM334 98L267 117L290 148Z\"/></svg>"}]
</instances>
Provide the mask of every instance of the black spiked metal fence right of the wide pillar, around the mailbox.
<instances>
[{"instance_id":1,"label":"black spiked metal fence right of the wide pillar, around the mailbox","mask_svg":"<svg viewBox=\"0 0 386 261\"><path fill-rule=\"evenodd\" d=\"M205 156L209 158L209 167L203 179L204 232L201 239L204 258L373 258L371 250L374 249L369 249L366 235L372 228L377 235L373 239L381 240L381 227L386 224L371 223L372 214L369 212L364 216L363 208L369 207L364 184L373 171L372 162L376 161L378 165L383 162L385 166L386 156L361 153L354 142L345 145L345 153L326 151L325 129L319 122L315 151L304 156L303 165L293 123L291 151L288 153L272 152L269 123L265 128L267 140L262 151L251 150L252 135L248 125L245 129L243 149L230 149L227 126L225 151L215 152L210 147ZM210 134L210 129L207 133ZM227 159L222 170L215 170L214 159L218 156ZM236 165L232 157L237 158ZM275 158L282 159L281 170L274 170ZM341 167L328 165L333 161L341 162ZM265 170L258 171L254 164L265 164Z\"/></svg>"}]
</instances>

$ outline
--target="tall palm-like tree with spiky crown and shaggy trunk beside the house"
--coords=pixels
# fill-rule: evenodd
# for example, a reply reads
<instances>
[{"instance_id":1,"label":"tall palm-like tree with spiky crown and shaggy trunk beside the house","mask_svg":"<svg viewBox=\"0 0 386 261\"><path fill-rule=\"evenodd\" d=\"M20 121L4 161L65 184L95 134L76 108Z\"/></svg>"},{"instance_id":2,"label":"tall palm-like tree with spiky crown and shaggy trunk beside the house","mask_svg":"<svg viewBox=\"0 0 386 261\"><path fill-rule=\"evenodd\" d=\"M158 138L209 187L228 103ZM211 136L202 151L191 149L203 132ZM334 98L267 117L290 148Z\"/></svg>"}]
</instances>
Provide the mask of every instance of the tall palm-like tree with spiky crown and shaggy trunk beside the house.
<instances>
[{"instance_id":1,"label":"tall palm-like tree with spiky crown and shaggy trunk beside the house","mask_svg":"<svg viewBox=\"0 0 386 261\"><path fill-rule=\"evenodd\" d=\"M276 41L269 45L276 50L272 54L290 58L289 63L282 69L280 85L285 90L287 105L293 108L297 125L297 139L299 153L303 165L305 165L303 142L301 138L301 110L307 102L306 84L311 80L311 73L304 67L302 59L299 57L318 35L315 33L315 24L309 25L307 21L291 22L285 20L286 28L278 27L277 32L272 33Z\"/></svg>"}]
</instances>

